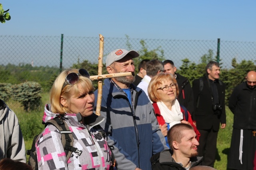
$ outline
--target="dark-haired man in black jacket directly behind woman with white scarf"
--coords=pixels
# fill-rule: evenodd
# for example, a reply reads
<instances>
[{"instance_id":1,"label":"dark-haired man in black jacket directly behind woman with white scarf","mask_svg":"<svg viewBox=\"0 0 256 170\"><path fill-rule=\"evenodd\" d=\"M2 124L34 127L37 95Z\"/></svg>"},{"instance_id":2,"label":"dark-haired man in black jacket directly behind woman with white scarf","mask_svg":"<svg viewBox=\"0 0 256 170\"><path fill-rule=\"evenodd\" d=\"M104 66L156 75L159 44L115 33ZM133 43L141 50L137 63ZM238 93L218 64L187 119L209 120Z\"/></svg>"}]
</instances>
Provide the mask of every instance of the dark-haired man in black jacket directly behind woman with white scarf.
<instances>
[{"instance_id":1,"label":"dark-haired man in black jacket directly behind woman with white scarf","mask_svg":"<svg viewBox=\"0 0 256 170\"><path fill-rule=\"evenodd\" d=\"M194 111L194 97L193 91L190 86L188 79L178 73L176 73L176 66L171 60L166 60L164 63L164 72L168 74L172 74L178 83L179 87L179 95L178 101L181 105L185 106L186 109L193 114Z\"/></svg>"}]
</instances>

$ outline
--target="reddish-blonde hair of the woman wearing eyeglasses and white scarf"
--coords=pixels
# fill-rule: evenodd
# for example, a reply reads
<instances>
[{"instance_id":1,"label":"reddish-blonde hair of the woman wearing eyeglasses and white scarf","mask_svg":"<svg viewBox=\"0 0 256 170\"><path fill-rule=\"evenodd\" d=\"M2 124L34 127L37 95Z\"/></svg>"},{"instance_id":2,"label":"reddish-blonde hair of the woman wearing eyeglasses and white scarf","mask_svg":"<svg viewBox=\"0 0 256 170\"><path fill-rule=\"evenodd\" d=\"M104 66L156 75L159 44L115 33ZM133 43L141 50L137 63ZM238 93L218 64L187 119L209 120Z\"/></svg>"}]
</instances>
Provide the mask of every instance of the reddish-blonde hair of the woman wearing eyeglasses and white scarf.
<instances>
[{"instance_id":1,"label":"reddish-blonde hair of the woman wearing eyeglasses and white scarf","mask_svg":"<svg viewBox=\"0 0 256 170\"><path fill-rule=\"evenodd\" d=\"M176 96L179 95L177 80L174 78L174 76L172 74L160 73L154 76L148 85L148 96L152 102L161 101L157 92L157 88L160 84L167 82L168 80L171 80L175 84L177 93Z\"/></svg>"}]
</instances>

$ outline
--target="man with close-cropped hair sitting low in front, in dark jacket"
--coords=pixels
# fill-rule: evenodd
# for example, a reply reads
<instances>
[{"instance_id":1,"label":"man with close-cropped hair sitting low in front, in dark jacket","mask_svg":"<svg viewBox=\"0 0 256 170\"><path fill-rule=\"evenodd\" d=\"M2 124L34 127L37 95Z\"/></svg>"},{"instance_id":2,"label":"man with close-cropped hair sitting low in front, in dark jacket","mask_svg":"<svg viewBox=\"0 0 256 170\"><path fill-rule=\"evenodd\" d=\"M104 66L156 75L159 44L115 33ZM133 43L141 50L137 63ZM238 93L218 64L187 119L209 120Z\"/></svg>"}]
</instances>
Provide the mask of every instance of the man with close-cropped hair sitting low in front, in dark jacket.
<instances>
[{"instance_id":1,"label":"man with close-cropped hair sitting low in front, in dark jacket","mask_svg":"<svg viewBox=\"0 0 256 170\"><path fill-rule=\"evenodd\" d=\"M200 163L202 157L196 157L199 143L191 125L173 125L167 138L170 149L151 157L152 170L189 170Z\"/></svg>"}]
</instances>

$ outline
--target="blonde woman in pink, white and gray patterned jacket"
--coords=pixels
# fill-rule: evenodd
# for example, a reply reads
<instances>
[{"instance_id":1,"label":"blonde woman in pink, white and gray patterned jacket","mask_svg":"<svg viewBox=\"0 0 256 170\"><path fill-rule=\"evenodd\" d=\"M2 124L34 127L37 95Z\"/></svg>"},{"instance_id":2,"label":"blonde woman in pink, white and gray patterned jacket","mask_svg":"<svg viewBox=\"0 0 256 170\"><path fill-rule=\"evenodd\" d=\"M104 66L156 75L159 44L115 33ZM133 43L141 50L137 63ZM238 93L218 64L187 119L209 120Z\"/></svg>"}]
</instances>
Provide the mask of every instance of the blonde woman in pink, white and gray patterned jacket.
<instances>
[{"instance_id":1,"label":"blonde woman in pink, white and gray patterned jacket","mask_svg":"<svg viewBox=\"0 0 256 170\"><path fill-rule=\"evenodd\" d=\"M50 119L60 117L68 125L74 144L67 160L68 149L61 139L61 133L65 132L47 125L35 144L38 169L110 169L111 151L99 131L104 118L93 113L93 91L90 75L84 69L64 70L56 78L50 91L50 104L44 108L43 122L47 124Z\"/></svg>"}]
</instances>

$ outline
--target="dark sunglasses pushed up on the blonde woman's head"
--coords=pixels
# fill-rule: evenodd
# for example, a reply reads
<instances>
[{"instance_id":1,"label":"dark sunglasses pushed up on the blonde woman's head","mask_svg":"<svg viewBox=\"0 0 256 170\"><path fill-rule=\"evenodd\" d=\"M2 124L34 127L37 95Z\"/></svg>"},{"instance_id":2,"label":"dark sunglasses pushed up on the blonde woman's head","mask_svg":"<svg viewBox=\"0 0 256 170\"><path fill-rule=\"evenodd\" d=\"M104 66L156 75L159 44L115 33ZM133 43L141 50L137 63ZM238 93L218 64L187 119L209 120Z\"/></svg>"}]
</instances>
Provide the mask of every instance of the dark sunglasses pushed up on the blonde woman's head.
<instances>
[{"instance_id":1,"label":"dark sunglasses pushed up on the blonde woman's head","mask_svg":"<svg viewBox=\"0 0 256 170\"><path fill-rule=\"evenodd\" d=\"M62 86L62 89L64 89L64 87L66 87L66 85L74 85L78 82L79 80L79 75L80 76L84 76L87 78L90 78L90 74L88 73L88 71L86 71L85 69L81 68L78 70L78 73L75 72L70 72L66 78L65 78L65 82Z\"/></svg>"}]
</instances>

